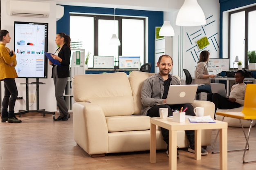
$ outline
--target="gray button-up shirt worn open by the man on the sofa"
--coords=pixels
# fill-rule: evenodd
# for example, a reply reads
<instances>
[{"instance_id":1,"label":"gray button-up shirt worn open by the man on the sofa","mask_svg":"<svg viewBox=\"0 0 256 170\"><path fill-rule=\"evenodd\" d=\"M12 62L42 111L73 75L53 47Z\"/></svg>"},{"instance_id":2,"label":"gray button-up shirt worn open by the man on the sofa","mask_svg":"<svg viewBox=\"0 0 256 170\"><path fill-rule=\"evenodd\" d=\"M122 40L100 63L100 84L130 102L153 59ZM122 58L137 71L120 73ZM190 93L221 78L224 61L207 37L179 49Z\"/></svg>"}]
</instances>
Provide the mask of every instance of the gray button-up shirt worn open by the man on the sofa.
<instances>
[{"instance_id":1,"label":"gray button-up shirt worn open by the man on the sofa","mask_svg":"<svg viewBox=\"0 0 256 170\"><path fill-rule=\"evenodd\" d=\"M172 85L180 85L180 79L176 76L169 75ZM141 88L141 115L147 115L148 110L156 104L164 103L162 96L164 94L164 79L157 73L148 77Z\"/></svg>"}]
</instances>

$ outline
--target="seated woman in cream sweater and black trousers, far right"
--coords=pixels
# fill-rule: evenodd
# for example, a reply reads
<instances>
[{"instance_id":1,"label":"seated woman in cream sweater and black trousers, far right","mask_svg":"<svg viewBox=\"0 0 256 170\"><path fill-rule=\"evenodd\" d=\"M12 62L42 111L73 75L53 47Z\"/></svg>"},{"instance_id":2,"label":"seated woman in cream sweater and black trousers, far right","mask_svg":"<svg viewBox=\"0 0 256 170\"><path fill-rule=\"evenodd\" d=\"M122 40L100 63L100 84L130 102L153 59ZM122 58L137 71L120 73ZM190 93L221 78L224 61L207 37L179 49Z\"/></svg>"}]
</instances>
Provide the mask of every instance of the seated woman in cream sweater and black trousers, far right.
<instances>
[{"instance_id":1,"label":"seated woman in cream sweater and black trousers, far right","mask_svg":"<svg viewBox=\"0 0 256 170\"><path fill-rule=\"evenodd\" d=\"M215 104L215 113L217 108L220 108L220 109L238 108L244 104L245 88L246 88L244 79L245 79L245 71L238 70L235 74L235 81L237 84L232 86L229 98L222 97L218 93L208 94L207 101L211 101ZM214 119L216 119L215 114L214 114Z\"/></svg>"}]
</instances>

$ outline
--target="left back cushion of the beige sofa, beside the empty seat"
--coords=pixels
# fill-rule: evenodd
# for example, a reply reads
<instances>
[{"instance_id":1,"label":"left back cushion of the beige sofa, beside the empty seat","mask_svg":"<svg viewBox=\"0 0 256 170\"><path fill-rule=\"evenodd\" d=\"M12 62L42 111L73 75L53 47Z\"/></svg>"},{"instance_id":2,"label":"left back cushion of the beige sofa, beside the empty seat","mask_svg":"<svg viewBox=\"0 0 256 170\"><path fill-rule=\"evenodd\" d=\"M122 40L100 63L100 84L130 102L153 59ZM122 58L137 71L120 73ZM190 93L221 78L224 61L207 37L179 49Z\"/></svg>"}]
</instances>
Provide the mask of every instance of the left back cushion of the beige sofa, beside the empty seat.
<instances>
[{"instance_id":1,"label":"left back cushion of the beige sofa, beside the empty seat","mask_svg":"<svg viewBox=\"0 0 256 170\"><path fill-rule=\"evenodd\" d=\"M98 104L105 116L132 115L132 90L126 73L75 75L72 92L76 102Z\"/></svg>"}]
</instances>

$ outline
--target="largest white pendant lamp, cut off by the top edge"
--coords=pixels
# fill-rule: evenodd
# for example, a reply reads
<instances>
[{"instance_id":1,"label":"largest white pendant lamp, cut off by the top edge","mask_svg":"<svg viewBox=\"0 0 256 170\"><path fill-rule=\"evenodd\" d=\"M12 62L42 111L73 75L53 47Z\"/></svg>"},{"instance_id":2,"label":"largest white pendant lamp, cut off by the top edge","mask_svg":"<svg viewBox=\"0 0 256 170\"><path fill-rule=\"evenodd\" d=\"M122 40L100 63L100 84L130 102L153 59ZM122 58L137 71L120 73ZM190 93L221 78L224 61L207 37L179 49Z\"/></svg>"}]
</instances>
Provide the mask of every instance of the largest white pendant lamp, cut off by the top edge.
<instances>
[{"instance_id":1,"label":"largest white pendant lamp, cut off by the top edge","mask_svg":"<svg viewBox=\"0 0 256 170\"><path fill-rule=\"evenodd\" d=\"M176 18L178 26L200 26L206 23L204 11L197 0L185 0Z\"/></svg>"}]
</instances>

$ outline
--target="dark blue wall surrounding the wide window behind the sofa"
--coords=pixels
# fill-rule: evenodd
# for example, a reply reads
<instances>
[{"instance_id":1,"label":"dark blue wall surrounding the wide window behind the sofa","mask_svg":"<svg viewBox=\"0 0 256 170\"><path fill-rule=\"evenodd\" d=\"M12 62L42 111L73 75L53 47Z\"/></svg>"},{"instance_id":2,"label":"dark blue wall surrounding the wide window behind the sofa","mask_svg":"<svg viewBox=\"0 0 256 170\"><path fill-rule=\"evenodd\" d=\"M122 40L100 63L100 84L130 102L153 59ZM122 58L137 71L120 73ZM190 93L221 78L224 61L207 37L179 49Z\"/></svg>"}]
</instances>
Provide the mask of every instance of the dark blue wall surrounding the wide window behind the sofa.
<instances>
[{"instance_id":1,"label":"dark blue wall surrounding the wide window behind the sofa","mask_svg":"<svg viewBox=\"0 0 256 170\"><path fill-rule=\"evenodd\" d=\"M67 35L70 35L70 18L69 18L70 12L113 14L113 8L64 6L64 16L57 21L57 33L64 32ZM150 72L154 72L155 27L162 26L163 18L164 18L163 12L131 10L131 9L115 9L115 14L148 17L148 62L150 62L153 65ZM77 26L79 26L79 23L77 24Z\"/></svg>"}]
</instances>

